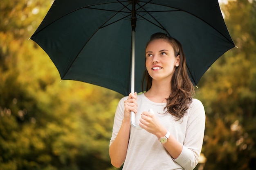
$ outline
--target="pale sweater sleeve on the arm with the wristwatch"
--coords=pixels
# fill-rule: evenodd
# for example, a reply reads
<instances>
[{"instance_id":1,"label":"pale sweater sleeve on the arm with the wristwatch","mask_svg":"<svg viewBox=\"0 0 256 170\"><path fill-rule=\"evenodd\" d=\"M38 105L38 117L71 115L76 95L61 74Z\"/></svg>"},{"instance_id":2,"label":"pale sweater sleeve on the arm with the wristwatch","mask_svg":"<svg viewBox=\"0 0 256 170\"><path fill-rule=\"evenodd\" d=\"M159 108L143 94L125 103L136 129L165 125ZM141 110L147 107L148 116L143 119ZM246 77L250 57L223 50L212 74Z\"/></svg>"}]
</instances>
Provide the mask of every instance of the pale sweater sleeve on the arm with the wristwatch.
<instances>
[{"instance_id":1,"label":"pale sweater sleeve on the arm with the wristwatch","mask_svg":"<svg viewBox=\"0 0 256 170\"><path fill-rule=\"evenodd\" d=\"M205 128L205 111L202 102L193 99L188 113L186 135L182 152L174 159L186 170L193 170L198 164L198 159L202 150Z\"/></svg>"}]
</instances>

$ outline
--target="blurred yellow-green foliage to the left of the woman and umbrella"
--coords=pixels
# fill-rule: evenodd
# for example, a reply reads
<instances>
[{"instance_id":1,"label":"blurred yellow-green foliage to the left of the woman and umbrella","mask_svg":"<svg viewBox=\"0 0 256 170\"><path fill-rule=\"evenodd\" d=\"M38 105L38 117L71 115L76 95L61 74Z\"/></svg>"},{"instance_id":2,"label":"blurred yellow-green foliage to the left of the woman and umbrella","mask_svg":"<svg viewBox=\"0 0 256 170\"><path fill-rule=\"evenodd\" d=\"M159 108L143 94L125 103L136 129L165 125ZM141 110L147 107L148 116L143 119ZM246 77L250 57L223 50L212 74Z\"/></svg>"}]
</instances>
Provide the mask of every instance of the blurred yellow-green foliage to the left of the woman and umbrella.
<instances>
[{"instance_id":1,"label":"blurred yellow-green foliage to the left of the woman and umbrella","mask_svg":"<svg viewBox=\"0 0 256 170\"><path fill-rule=\"evenodd\" d=\"M27 40L48 0L0 5L0 170L111 169L109 139L121 95L62 81L49 57Z\"/></svg>"}]
</instances>

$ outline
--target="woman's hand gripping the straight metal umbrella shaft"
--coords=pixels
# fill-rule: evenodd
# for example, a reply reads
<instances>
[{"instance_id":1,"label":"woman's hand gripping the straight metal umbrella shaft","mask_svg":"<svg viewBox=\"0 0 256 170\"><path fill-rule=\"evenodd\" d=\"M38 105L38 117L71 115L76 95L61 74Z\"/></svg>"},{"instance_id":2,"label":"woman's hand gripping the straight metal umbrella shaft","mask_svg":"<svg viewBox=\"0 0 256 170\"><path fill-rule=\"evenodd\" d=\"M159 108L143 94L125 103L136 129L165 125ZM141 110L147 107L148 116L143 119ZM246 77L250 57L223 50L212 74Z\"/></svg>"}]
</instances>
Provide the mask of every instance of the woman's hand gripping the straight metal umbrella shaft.
<instances>
[{"instance_id":1,"label":"woman's hand gripping the straight metal umbrella shaft","mask_svg":"<svg viewBox=\"0 0 256 170\"><path fill-rule=\"evenodd\" d=\"M130 112L137 113L137 92L130 93L127 100L124 101L124 119L130 120Z\"/></svg>"}]
</instances>

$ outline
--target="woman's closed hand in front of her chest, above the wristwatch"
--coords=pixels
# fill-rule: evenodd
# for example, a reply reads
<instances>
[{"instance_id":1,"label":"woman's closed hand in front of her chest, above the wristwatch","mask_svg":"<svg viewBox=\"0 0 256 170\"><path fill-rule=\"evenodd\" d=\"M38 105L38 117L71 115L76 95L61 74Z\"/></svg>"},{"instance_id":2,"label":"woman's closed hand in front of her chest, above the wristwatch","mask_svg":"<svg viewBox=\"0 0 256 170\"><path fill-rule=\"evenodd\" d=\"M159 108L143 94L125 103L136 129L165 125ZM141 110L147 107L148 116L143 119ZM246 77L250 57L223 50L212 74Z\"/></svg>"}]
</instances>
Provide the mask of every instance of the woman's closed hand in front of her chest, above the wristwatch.
<instances>
[{"instance_id":1,"label":"woman's closed hand in front of her chest, above the wristwatch","mask_svg":"<svg viewBox=\"0 0 256 170\"><path fill-rule=\"evenodd\" d=\"M157 137L160 135L159 132L161 133L162 131L167 131L162 126L158 118L153 113L148 111L142 112L139 126Z\"/></svg>"}]
</instances>

